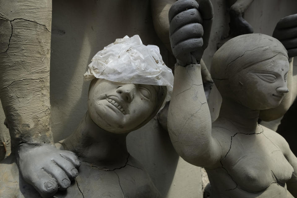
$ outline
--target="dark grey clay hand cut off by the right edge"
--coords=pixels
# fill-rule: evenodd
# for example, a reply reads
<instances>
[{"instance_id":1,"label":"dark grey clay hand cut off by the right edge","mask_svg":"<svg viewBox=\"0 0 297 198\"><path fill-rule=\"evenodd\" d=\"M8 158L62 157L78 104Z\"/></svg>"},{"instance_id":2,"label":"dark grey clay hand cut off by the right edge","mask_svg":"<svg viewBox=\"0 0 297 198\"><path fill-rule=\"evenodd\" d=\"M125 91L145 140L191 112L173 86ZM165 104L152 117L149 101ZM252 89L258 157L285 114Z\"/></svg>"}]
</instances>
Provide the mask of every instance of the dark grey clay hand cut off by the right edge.
<instances>
[{"instance_id":1,"label":"dark grey clay hand cut off by the right edge","mask_svg":"<svg viewBox=\"0 0 297 198\"><path fill-rule=\"evenodd\" d=\"M282 42L289 58L297 56L297 14L279 20L272 36Z\"/></svg>"}]
</instances>

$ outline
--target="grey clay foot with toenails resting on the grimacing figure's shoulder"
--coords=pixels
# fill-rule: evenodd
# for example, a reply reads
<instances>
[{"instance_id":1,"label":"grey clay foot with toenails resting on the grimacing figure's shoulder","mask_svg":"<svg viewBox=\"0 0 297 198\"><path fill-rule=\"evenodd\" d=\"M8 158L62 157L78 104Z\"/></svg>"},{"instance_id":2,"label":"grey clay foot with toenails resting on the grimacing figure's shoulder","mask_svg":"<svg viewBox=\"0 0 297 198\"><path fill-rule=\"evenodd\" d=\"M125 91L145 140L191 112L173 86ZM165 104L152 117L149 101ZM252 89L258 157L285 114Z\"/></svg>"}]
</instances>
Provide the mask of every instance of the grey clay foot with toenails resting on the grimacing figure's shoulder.
<instances>
[{"instance_id":1,"label":"grey clay foot with toenails resting on the grimacing figure's shoulder","mask_svg":"<svg viewBox=\"0 0 297 198\"><path fill-rule=\"evenodd\" d=\"M51 144L21 144L17 156L24 180L35 187L42 197L65 190L80 166L73 152L57 150Z\"/></svg>"}]
</instances>

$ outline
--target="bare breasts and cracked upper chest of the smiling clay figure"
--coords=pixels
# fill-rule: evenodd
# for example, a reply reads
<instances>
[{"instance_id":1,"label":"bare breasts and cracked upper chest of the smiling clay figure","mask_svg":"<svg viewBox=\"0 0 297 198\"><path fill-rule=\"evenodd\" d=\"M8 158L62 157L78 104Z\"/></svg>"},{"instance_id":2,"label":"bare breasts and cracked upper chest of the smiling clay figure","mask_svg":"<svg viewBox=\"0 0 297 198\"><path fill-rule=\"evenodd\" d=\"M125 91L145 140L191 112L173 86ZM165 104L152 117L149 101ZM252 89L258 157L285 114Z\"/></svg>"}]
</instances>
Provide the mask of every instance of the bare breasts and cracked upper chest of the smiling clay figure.
<instances>
[{"instance_id":1,"label":"bare breasts and cracked upper chest of the smiling clay figure","mask_svg":"<svg viewBox=\"0 0 297 198\"><path fill-rule=\"evenodd\" d=\"M284 187L293 173L281 150L264 133L232 137L222 165L238 187L248 192L263 191L272 183Z\"/></svg>"}]
</instances>

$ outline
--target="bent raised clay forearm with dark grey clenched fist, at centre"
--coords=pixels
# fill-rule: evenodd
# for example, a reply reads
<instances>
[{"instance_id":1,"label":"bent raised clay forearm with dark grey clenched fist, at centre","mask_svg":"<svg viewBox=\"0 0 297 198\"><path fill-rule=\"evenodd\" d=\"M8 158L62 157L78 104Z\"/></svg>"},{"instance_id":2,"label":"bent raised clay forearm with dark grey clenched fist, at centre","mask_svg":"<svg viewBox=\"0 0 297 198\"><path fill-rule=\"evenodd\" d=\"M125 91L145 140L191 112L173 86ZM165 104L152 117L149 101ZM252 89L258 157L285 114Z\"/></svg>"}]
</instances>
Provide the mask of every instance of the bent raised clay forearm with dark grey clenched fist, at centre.
<instances>
[{"instance_id":1,"label":"bent raised clay forearm with dark grey clenched fist, at centre","mask_svg":"<svg viewBox=\"0 0 297 198\"><path fill-rule=\"evenodd\" d=\"M198 64L207 47L212 16L209 0L200 1L199 8L195 1L179 0L169 12L170 41L179 65L175 68L168 131L184 160L205 167L219 166L222 150L211 136L211 118Z\"/></svg>"}]
</instances>

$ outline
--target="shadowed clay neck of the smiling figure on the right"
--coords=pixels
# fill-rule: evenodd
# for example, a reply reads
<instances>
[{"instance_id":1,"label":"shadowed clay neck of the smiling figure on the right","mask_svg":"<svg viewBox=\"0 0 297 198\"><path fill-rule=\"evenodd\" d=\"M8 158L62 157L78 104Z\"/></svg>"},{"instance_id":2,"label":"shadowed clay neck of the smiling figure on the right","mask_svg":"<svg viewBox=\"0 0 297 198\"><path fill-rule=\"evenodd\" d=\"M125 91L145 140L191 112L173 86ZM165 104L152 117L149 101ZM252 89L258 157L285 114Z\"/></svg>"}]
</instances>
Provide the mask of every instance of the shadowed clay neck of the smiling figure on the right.
<instances>
[{"instance_id":1,"label":"shadowed clay neck of the smiling figure on the right","mask_svg":"<svg viewBox=\"0 0 297 198\"><path fill-rule=\"evenodd\" d=\"M235 101L223 98L219 118L228 119L242 133L257 132L259 110L252 110Z\"/></svg>"}]
</instances>

